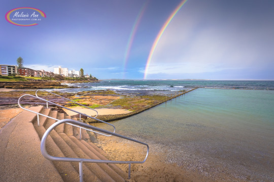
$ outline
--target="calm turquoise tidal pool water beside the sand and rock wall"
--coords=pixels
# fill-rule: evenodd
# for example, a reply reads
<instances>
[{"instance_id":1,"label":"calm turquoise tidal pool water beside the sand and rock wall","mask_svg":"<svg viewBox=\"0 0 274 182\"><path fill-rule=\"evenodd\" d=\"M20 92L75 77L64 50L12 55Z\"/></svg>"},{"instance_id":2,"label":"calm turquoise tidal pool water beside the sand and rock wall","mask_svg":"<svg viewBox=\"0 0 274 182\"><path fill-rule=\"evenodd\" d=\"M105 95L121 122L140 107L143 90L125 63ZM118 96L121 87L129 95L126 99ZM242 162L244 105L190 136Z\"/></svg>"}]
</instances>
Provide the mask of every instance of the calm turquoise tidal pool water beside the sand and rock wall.
<instances>
[{"instance_id":1,"label":"calm turquoise tidal pool water beside the sand and rock wall","mask_svg":"<svg viewBox=\"0 0 274 182\"><path fill-rule=\"evenodd\" d=\"M205 175L274 181L274 91L198 88L113 122L159 145L167 162Z\"/></svg>"}]
</instances>

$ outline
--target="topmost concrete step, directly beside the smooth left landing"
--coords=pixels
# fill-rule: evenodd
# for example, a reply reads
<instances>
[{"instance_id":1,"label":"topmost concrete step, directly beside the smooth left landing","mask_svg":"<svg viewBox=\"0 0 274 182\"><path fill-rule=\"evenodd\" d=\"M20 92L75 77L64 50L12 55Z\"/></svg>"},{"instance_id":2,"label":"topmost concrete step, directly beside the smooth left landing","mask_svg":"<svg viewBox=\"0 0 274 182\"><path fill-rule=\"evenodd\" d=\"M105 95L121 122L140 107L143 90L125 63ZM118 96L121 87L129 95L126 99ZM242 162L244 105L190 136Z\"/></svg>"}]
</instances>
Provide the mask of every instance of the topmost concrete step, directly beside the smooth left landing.
<instances>
[{"instance_id":1,"label":"topmost concrete step, directly beside the smooth left landing","mask_svg":"<svg viewBox=\"0 0 274 182\"><path fill-rule=\"evenodd\" d=\"M42 139L46 129L44 126L38 126L37 122L33 123L40 140ZM52 131L54 132L54 130ZM40 146L40 145L39 145ZM46 141L46 149L48 154L55 156L55 157L65 157L62 153L60 148L56 145L54 140L51 137L51 134L48 136ZM40 151L41 153L41 151ZM43 157L44 158L44 157ZM45 159L45 158L44 158ZM75 167L70 162L59 162L59 161L52 161L56 170L61 175L64 181L78 181L79 180L79 173L76 171ZM79 165L76 165L79 166Z\"/></svg>"}]
</instances>

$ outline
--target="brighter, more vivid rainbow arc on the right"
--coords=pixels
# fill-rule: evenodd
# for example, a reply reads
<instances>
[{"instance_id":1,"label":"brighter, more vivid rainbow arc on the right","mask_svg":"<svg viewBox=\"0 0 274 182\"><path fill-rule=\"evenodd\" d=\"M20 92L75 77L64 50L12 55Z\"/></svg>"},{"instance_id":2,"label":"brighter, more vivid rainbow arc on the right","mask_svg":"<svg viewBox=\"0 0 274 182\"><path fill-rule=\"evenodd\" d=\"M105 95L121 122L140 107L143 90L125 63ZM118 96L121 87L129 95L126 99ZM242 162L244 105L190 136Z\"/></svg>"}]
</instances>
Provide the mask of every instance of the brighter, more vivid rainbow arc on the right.
<instances>
[{"instance_id":1,"label":"brighter, more vivid rainbow arc on the right","mask_svg":"<svg viewBox=\"0 0 274 182\"><path fill-rule=\"evenodd\" d=\"M145 73L144 73L144 79L146 79L147 77L147 74L148 74L148 68L149 68L149 65L150 65L150 62L151 62L151 58L153 56L153 53L155 51L155 48L157 47L157 44L164 32L164 30L166 29L166 27L168 26L168 24L170 23L170 21L172 21L172 19L174 18L174 16L178 13L178 11L182 8L182 6L187 2L187 0L183 0L177 7L176 9L172 12L172 14L169 15L169 17L167 18L167 20L165 21L164 25L162 26L161 30L159 31L157 37L155 38L154 42L153 42L153 45L152 45L152 48L150 50L150 53L149 53L149 57L148 57L148 60L147 60L147 64L146 64L146 68L145 68Z\"/></svg>"}]
</instances>

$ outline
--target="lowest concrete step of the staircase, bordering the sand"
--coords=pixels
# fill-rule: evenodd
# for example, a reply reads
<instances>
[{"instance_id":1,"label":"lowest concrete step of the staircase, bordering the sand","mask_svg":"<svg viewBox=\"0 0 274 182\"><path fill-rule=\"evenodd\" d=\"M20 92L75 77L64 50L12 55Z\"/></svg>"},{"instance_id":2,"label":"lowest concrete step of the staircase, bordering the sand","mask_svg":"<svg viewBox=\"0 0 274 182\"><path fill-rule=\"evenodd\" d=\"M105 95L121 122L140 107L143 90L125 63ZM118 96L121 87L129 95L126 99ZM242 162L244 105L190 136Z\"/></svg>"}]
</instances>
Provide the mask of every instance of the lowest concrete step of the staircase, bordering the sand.
<instances>
[{"instance_id":1,"label":"lowest concrete step of the staircase, bordering the sand","mask_svg":"<svg viewBox=\"0 0 274 182\"><path fill-rule=\"evenodd\" d=\"M101 160L96 156L89 148L87 148L83 143L77 140L75 137L70 136L70 139L81 149L90 159ZM106 171L115 181L125 181L123 177L117 174L110 166L106 163L97 163L104 171Z\"/></svg>"}]
</instances>

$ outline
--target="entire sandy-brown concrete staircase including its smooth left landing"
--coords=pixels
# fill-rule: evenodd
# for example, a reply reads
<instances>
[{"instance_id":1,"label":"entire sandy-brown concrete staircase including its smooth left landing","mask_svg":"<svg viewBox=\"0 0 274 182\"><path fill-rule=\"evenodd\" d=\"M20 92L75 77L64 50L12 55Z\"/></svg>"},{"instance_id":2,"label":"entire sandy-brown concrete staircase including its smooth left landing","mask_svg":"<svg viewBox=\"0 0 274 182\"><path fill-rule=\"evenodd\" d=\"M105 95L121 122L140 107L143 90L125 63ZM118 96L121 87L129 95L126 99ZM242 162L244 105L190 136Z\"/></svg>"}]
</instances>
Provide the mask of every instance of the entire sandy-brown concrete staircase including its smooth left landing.
<instances>
[{"instance_id":1,"label":"entire sandy-brown concrete staircase including its smooth left landing","mask_svg":"<svg viewBox=\"0 0 274 182\"><path fill-rule=\"evenodd\" d=\"M70 116L44 109L31 107L53 118L76 119ZM40 143L46 129L55 120L28 111L21 112L0 130L0 181L79 181L78 162L48 161L40 151ZM108 160L106 153L89 142L89 134L82 129L79 140L79 128L60 124L47 138L46 149L49 155L56 157L86 158ZM125 181L127 174L115 164L83 163L84 181Z\"/></svg>"}]
</instances>

